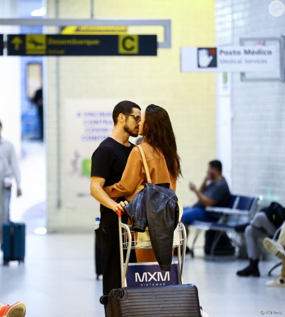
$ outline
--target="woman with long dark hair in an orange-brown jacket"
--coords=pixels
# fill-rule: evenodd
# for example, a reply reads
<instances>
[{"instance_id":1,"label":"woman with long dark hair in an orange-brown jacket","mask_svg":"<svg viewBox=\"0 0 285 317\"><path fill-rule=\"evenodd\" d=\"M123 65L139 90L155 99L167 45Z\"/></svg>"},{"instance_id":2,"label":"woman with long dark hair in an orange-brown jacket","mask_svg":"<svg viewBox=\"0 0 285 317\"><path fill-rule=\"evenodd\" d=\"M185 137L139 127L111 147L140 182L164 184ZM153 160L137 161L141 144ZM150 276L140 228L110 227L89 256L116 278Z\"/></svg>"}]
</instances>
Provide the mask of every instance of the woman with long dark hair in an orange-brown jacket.
<instances>
[{"instance_id":1,"label":"woman with long dark hair in an orange-brown jacket","mask_svg":"<svg viewBox=\"0 0 285 317\"><path fill-rule=\"evenodd\" d=\"M139 135L144 136L141 147L146 157L150 178L153 184L169 183L169 188L176 190L177 178L181 176L180 158L177 154L176 140L169 115L165 109L156 105L149 105L142 114L139 122ZM138 147L133 147L126 168L119 183L104 187L111 198L133 197L146 184L147 177L143 160ZM128 199L129 201L131 200ZM122 209L128 202L116 203L110 201L108 206L114 211ZM139 260L138 252L137 260ZM149 253L147 262L156 261L152 249L140 250ZM140 252L139 252L140 253ZM152 256L150 256L152 254ZM154 257L154 258L153 258Z\"/></svg>"}]
</instances>

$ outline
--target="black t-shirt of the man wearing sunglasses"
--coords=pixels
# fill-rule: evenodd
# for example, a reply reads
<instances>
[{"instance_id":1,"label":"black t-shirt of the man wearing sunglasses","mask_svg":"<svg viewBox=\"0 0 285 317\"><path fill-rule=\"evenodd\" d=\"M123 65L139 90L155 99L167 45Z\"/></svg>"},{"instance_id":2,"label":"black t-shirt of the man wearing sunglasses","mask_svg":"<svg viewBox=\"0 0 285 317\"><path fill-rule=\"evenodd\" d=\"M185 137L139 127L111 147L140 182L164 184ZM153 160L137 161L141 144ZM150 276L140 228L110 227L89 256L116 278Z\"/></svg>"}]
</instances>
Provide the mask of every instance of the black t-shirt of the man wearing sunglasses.
<instances>
[{"instance_id":1,"label":"black t-shirt of the man wearing sunglasses","mask_svg":"<svg viewBox=\"0 0 285 317\"><path fill-rule=\"evenodd\" d=\"M133 146L132 143L130 146L124 146L110 137L102 141L92 155L91 176L105 178L104 186L118 183ZM116 201L124 200L125 197L119 197ZM113 210L100 204L100 213L101 226L118 226L118 217Z\"/></svg>"}]
</instances>

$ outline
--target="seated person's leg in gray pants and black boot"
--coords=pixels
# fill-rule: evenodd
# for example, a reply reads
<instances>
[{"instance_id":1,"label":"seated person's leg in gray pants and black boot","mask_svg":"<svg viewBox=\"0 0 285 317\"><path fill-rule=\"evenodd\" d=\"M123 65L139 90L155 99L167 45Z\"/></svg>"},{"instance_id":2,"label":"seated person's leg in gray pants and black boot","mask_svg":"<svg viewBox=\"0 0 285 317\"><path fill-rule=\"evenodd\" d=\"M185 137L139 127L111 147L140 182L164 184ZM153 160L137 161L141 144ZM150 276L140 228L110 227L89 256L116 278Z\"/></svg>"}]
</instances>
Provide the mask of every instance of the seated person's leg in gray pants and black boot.
<instances>
[{"instance_id":1,"label":"seated person's leg in gray pants and black boot","mask_svg":"<svg viewBox=\"0 0 285 317\"><path fill-rule=\"evenodd\" d=\"M245 228L244 236L246 241L246 249L249 257L249 265L243 270L237 271L239 276L259 276L258 261L260 257L260 249L258 247L258 239L267 236L273 236L276 227L271 223L264 212L258 212L250 224Z\"/></svg>"}]
</instances>

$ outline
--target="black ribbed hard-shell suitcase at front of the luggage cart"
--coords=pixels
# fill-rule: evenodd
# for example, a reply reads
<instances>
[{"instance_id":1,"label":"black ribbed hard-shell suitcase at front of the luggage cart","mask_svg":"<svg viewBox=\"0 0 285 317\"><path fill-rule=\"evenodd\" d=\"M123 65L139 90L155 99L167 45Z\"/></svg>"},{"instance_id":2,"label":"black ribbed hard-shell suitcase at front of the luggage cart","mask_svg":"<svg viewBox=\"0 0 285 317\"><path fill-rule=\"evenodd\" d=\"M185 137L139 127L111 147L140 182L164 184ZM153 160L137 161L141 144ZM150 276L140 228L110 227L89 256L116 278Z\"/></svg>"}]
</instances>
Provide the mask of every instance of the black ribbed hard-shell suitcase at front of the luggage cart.
<instances>
[{"instance_id":1,"label":"black ribbed hard-shell suitcase at front of the luggage cart","mask_svg":"<svg viewBox=\"0 0 285 317\"><path fill-rule=\"evenodd\" d=\"M107 317L201 317L197 287L193 284L117 288L102 296Z\"/></svg>"}]
</instances>

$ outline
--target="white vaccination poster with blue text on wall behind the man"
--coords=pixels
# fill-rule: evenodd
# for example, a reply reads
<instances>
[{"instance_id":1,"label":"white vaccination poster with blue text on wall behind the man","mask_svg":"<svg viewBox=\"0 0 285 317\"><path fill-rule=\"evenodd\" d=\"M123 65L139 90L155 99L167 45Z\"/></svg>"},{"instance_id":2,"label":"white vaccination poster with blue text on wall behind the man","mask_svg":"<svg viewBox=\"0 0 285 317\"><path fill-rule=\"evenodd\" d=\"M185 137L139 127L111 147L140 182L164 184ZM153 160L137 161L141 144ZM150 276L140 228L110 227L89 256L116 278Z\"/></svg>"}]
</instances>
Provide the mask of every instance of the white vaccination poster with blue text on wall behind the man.
<instances>
[{"instance_id":1,"label":"white vaccination poster with blue text on wall behind the man","mask_svg":"<svg viewBox=\"0 0 285 317\"><path fill-rule=\"evenodd\" d=\"M63 207L90 210L99 204L90 195L91 156L113 131L118 99L67 99L62 112L61 192Z\"/></svg>"}]
</instances>

